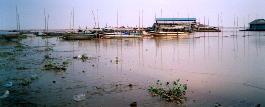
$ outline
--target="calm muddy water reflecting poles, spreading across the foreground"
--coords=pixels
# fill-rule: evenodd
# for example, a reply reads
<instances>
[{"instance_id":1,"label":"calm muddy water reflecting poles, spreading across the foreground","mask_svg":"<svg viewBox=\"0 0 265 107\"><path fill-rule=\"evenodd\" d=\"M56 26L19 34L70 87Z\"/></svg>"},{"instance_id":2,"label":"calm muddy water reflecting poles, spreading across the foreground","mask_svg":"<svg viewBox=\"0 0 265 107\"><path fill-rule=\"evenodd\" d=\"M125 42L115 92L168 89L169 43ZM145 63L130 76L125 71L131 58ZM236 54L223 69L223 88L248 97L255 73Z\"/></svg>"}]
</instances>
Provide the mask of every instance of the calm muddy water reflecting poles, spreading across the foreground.
<instances>
[{"instance_id":1,"label":"calm muddy water reflecting poles, spreading across the foreground","mask_svg":"<svg viewBox=\"0 0 265 107\"><path fill-rule=\"evenodd\" d=\"M0 64L4 64L0 68L0 91L10 92L8 97L0 99L0 106L130 106L132 102L137 102L138 106L214 106L217 102L223 106L264 104L265 32L245 31L245 35L258 36L241 37L244 31L238 31L234 35L241 36L235 38L208 37L233 35L231 28L223 31L190 33L190 37L200 37L190 39L171 36L162 37L168 39L79 40L74 45L59 37L49 38L48 42L55 46L46 45L41 37L22 39L21 43L30 47L15 51L15 55L11 55L14 61L6 60L9 56L0 57ZM1 42L0 51L18 50L14 46L14 42ZM47 47L54 50L37 51ZM90 59L72 58L83 53ZM67 59L72 62L65 72L41 70L45 62L51 60L44 59L46 54L51 54L54 62L62 63ZM120 59L117 64L115 57ZM30 69L16 69L21 66ZM38 74L39 79L30 80L33 74ZM29 79L31 84L19 85L20 78ZM157 80L165 84L176 79L188 85L187 100L181 103L151 96L147 90ZM8 82L13 86L2 86ZM98 91L95 87L106 89ZM74 101L73 96L81 93L86 94L86 100Z\"/></svg>"}]
</instances>

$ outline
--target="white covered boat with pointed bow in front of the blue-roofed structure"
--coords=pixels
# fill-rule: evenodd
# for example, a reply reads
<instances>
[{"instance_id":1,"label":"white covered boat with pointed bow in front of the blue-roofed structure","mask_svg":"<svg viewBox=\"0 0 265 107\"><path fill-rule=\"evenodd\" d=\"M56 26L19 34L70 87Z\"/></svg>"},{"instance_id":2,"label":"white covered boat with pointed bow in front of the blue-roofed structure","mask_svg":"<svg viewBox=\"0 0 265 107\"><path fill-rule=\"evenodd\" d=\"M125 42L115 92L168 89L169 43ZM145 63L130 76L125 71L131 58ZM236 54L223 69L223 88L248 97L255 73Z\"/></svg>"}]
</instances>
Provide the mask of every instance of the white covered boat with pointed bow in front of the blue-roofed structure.
<instances>
[{"instance_id":1,"label":"white covered boat with pointed bow in front of the blue-roofed structure","mask_svg":"<svg viewBox=\"0 0 265 107\"><path fill-rule=\"evenodd\" d=\"M175 27L156 27L154 31L146 31L153 36L178 36L188 35L188 26Z\"/></svg>"}]
</instances>

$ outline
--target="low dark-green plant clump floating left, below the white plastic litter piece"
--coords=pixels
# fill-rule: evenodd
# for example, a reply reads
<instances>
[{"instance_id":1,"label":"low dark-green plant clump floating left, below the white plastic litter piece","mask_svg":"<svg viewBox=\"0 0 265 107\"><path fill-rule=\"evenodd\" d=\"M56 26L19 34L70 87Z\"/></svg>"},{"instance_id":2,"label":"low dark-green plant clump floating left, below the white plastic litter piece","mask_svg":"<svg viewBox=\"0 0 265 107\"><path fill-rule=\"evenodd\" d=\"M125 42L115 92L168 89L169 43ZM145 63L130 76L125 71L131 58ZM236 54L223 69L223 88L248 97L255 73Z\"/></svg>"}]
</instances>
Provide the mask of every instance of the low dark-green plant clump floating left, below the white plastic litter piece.
<instances>
[{"instance_id":1,"label":"low dark-green plant clump floating left, below the white plastic litter piece","mask_svg":"<svg viewBox=\"0 0 265 107\"><path fill-rule=\"evenodd\" d=\"M66 62L68 62L68 61L66 61ZM42 70L50 70L50 69L54 69L54 70L58 70L58 71L59 70L66 70L66 64L59 64L59 62L49 61L42 68Z\"/></svg>"}]
</instances>

